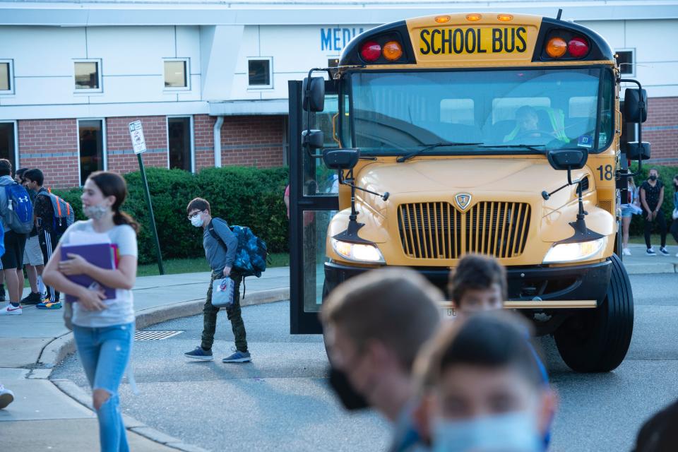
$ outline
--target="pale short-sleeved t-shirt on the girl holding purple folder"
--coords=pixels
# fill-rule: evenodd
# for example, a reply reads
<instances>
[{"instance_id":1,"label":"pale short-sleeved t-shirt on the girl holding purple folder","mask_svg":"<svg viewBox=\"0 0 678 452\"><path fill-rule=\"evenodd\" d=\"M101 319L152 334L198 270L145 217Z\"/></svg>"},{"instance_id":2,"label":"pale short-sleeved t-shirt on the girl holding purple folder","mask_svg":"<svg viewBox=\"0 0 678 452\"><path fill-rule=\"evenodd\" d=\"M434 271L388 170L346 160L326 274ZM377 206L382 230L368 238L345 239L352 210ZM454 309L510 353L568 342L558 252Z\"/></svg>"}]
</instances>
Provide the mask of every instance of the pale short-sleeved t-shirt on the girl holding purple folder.
<instances>
[{"instance_id":1,"label":"pale short-sleeved t-shirt on the girl holding purple folder","mask_svg":"<svg viewBox=\"0 0 678 452\"><path fill-rule=\"evenodd\" d=\"M78 232L95 233L92 220L76 221L64 232L59 244L69 244L73 234ZM137 257L136 233L129 225L117 225L104 232L111 240L111 244L118 246L120 256ZM73 324L88 328L102 328L105 326L123 325L134 321L132 291L116 289L115 298L104 301L107 309L103 311L88 311L73 303Z\"/></svg>"}]
</instances>

